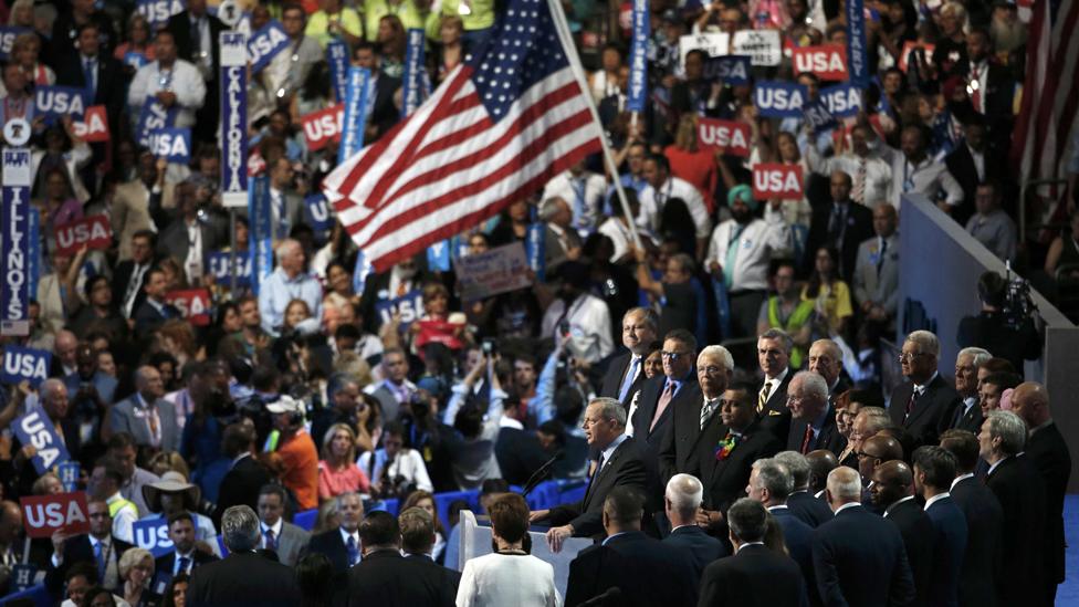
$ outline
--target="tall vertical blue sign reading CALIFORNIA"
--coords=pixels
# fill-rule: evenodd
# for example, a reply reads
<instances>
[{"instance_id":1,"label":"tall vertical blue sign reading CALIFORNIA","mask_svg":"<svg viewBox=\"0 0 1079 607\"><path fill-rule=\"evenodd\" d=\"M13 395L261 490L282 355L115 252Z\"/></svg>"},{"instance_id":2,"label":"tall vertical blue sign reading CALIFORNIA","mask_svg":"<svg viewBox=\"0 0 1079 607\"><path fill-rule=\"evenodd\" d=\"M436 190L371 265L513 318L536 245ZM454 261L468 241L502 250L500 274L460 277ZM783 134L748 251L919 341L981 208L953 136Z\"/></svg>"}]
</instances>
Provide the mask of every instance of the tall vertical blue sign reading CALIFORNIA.
<instances>
[{"instance_id":1,"label":"tall vertical blue sign reading CALIFORNIA","mask_svg":"<svg viewBox=\"0 0 1079 607\"><path fill-rule=\"evenodd\" d=\"M221 32L221 203L248 203L248 45Z\"/></svg>"}]
</instances>

